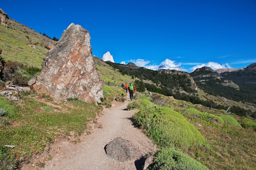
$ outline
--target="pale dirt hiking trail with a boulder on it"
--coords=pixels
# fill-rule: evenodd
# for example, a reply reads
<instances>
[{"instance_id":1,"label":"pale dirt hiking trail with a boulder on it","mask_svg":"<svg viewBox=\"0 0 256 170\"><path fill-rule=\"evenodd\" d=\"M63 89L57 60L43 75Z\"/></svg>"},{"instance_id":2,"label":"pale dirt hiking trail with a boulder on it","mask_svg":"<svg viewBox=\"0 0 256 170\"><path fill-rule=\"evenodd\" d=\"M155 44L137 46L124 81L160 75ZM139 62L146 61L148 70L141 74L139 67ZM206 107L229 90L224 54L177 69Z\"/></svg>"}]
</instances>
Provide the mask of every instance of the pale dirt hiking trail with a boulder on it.
<instances>
[{"instance_id":1,"label":"pale dirt hiking trail with a boulder on it","mask_svg":"<svg viewBox=\"0 0 256 170\"><path fill-rule=\"evenodd\" d=\"M102 128L93 128L90 135L83 134L81 142L72 144L66 139L57 141L50 151L52 159L46 161L41 170L138 170L134 161L121 163L107 157L104 147L116 137L132 142L146 153L153 152L155 146L144 133L132 125L131 117L136 110L127 110L128 101L112 103L104 108L98 122ZM136 167L137 166L137 167ZM35 168L35 166L34 166ZM22 170L31 170L23 167Z\"/></svg>"}]
</instances>

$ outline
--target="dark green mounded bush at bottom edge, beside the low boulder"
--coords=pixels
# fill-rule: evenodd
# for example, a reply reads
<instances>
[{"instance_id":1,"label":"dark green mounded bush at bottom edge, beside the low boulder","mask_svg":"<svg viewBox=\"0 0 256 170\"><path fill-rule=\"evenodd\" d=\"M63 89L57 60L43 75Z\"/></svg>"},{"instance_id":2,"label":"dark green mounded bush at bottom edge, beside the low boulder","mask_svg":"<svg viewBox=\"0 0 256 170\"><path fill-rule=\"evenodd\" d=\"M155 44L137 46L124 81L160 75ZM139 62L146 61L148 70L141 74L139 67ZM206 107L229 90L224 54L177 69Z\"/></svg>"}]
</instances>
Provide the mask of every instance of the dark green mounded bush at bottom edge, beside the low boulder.
<instances>
[{"instance_id":1,"label":"dark green mounded bush at bottom edge, beside the low boulder","mask_svg":"<svg viewBox=\"0 0 256 170\"><path fill-rule=\"evenodd\" d=\"M147 170L208 170L207 167L182 152L171 148L160 150Z\"/></svg>"}]
</instances>

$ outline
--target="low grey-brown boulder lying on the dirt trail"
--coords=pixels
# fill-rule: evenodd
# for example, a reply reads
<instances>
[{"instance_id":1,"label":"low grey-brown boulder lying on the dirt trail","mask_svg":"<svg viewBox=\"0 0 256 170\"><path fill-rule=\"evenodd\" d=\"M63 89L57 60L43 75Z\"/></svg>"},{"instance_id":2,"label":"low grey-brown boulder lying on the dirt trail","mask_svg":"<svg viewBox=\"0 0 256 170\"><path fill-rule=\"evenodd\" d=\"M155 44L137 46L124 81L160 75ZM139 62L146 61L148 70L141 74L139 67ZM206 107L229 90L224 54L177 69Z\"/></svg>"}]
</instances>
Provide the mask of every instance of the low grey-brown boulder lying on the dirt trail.
<instances>
[{"instance_id":1,"label":"low grey-brown boulder lying on the dirt trail","mask_svg":"<svg viewBox=\"0 0 256 170\"><path fill-rule=\"evenodd\" d=\"M135 161L143 157L141 150L136 148L130 141L117 137L106 145L106 154L110 159L120 162Z\"/></svg>"}]
</instances>

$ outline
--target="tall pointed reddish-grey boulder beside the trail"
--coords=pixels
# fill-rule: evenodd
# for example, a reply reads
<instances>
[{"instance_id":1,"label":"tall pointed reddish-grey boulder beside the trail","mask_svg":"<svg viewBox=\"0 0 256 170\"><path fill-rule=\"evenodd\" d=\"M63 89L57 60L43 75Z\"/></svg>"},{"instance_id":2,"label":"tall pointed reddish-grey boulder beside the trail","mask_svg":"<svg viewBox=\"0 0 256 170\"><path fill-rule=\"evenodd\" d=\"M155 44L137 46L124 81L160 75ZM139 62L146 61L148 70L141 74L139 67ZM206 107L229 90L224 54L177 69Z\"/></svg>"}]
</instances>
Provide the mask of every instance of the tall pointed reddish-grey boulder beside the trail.
<instances>
[{"instance_id":1,"label":"tall pointed reddish-grey boulder beside the trail","mask_svg":"<svg viewBox=\"0 0 256 170\"><path fill-rule=\"evenodd\" d=\"M67 27L61 40L44 57L33 88L53 99L100 102L103 83L92 59L90 34L86 29L73 23Z\"/></svg>"}]
</instances>

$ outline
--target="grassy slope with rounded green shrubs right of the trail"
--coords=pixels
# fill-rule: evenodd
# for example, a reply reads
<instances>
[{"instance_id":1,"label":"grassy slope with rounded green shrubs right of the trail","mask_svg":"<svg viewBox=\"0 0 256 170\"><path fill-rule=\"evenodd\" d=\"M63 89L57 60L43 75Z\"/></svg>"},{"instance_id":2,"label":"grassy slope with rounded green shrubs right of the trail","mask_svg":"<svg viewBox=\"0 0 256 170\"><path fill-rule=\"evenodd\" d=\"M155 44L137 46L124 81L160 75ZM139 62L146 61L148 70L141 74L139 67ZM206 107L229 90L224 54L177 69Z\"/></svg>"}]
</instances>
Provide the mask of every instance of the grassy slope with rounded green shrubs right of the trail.
<instances>
[{"instance_id":1,"label":"grassy slope with rounded green shrubs right of the trail","mask_svg":"<svg viewBox=\"0 0 256 170\"><path fill-rule=\"evenodd\" d=\"M137 99L129 104L130 108L140 110L133 116L135 124L160 149L149 170L255 169L256 121L227 115L222 110L203 109L157 93ZM146 102L147 107L141 102L145 99L157 106Z\"/></svg>"}]
</instances>

